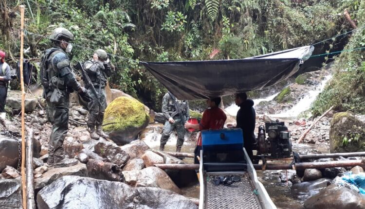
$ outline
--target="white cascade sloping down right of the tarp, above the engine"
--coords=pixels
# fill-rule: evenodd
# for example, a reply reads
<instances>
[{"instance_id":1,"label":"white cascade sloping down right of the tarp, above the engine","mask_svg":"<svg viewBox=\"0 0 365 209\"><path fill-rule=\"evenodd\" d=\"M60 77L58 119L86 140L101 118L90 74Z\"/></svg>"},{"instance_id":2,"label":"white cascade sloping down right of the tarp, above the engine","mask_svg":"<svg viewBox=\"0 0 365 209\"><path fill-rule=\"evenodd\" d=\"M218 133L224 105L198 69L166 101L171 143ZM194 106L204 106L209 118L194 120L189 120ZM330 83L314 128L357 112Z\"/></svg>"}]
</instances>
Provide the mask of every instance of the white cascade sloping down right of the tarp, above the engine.
<instances>
[{"instance_id":1,"label":"white cascade sloping down right of the tarp, above the engine","mask_svg":"<svg viewBox=\"0 0 365 209\"><path fill-rule=\"evenodd\" d=\"M315 98L319 93L323 91L326 87L327 82L332 78L332 75L327 75L324 80L322 80L320 85L317 85L314 90L310 90L309 94L299 100L291 109L281 112L279 114L270 115L273 118L295 118L298 115L310 108L310 105L314 102Z\"/></svg>"}]
</instances>

